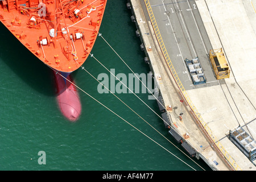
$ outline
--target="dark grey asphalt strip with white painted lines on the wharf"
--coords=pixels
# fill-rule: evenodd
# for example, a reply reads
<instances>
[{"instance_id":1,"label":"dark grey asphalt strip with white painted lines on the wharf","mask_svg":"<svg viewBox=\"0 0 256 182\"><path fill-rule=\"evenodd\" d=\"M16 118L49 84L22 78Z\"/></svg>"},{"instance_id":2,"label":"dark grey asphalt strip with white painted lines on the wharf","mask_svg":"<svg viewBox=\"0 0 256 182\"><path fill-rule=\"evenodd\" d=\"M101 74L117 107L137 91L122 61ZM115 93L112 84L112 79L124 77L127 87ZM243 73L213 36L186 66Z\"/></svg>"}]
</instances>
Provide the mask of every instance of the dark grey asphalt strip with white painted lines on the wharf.
<instances>
[{"instance_id":1,"label":"dark grey asphalt strip with white painted lines on the wharf","mask_svg":"<svg viewBox=\"0 0 256 182\"><path fill-rule=\"evenodd\" d=\"M143 5L144 2L141 2ZM195 1L150 0L150 5L168 55L185 90L219 84L208 59L212 46ZM146 9L143 10L147 14ZM185 64L185 59L196 57L203 68L207 80L205 84L193 85Z\"/></svg>"}]
</instances>

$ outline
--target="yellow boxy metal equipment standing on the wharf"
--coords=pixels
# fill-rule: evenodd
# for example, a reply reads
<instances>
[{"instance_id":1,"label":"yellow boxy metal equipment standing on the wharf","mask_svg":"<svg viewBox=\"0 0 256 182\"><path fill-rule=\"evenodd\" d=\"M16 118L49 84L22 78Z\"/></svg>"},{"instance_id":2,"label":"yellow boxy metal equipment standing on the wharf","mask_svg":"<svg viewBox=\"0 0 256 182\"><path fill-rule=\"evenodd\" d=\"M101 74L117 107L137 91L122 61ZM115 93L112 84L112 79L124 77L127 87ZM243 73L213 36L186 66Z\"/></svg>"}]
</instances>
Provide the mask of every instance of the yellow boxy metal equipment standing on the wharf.
<instances>
[{"instance_id":1,"label":"yellow boxy metal equipment standing on the wharf","mask_svg":"<svg viewBox=\"0 0 256 182\"><path fill-rule=\"evenodd\" d=\"M229 78L230 69L222 48L210 50L209 59L217 80Z\"/></svg>"}]
</instances>

